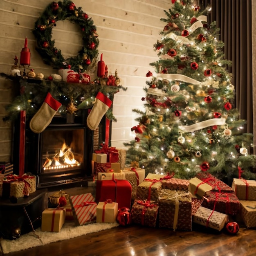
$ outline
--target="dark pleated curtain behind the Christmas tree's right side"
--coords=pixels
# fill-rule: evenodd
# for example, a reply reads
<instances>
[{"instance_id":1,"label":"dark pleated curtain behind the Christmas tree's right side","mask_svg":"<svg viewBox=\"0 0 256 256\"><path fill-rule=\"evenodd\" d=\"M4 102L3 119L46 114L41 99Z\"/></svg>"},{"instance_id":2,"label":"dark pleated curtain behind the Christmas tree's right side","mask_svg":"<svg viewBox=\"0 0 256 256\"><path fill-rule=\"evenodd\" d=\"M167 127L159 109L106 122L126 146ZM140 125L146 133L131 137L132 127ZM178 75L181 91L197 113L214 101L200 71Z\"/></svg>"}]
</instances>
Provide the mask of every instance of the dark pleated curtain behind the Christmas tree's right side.
<instances>
[{"instance_id":1,"label":"dark pleated curtain behind the Christmas tree's right side","mask_svg":"<svg viewBox=\"0 0 256 256\"><path fill-rule=\"evenodd\" d=\"M253 133L252 101L252 0L201 0L211 6L208 22L216 21L219 40L225 43L225 59L232 61L229 72L235 87L235 107L247 120L244 132Z\"/></svg>"}]
</instances>

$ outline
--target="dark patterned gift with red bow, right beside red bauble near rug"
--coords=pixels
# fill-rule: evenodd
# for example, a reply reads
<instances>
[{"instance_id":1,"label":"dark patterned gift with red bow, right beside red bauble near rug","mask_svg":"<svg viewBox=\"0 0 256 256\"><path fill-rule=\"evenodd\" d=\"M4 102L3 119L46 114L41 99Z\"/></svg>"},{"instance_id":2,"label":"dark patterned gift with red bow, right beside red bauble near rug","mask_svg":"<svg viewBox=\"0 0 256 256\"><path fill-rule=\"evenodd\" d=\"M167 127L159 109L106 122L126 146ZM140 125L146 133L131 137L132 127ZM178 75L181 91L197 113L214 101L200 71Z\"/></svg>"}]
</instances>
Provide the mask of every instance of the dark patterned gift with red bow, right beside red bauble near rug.
<instances>
[{"instance_id":1,"label":"dark patterned gift with red bow, right beside red bauble near rug","mask_svg":"<svg viewBox=\"0 0 256 256\"><path fill-rule=\"evenodd\" d=\"M142 226L156 227L158 203L155 201L135 200L131 209L132 222Z\"/></svg>"}]
</instances>

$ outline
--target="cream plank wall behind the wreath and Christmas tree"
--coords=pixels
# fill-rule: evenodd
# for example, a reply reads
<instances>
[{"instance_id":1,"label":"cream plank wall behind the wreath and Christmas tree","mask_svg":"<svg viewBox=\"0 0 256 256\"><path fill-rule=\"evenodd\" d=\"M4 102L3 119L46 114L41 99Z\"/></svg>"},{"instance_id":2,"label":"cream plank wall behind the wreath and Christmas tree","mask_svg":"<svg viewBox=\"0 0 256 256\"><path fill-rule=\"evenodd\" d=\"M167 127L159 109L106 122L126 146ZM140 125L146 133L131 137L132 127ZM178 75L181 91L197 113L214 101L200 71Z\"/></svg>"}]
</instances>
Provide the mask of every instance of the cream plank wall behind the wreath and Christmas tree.
<instances>
[{"instance_id":1,"label":"cream plank wall behind the wreath and Christmas tree","mask_svg":"<svg viewBox=\"0 0 256 256\"><path fill-rule=\"evenodd\" d=\"M9 73L14 57L20 58L25 37L31 51L31 65L36 73L46 77L58 73L45 65L35 50L32 34L34 22L41 16L50 0L0 0L0 72ZM133 108L143 109L141 97L144 96L146 73L152 70L149 63L157 60L153 44L163 29L164 9L170 8L170 0L75 0L77 7L88 13L94 20L99 34L99 54L108 65L109 74L117 69L121 84L127 91L115 95L113 114L117 122L112 125L112 146L123 148L124 142L134 138L130 131L137 125ZM66 24L67 25L67 24ZM77 55L79 34L76 27L62 25L53 29L56 47L63 55ZM68 47L65 47L67 45ZM5 106L13 99L13 83L0 77L0 161L9 161L11 155L11 124L3 122ZM15 147L16 145L14 145Z\"/></svg>"}]
</instances>

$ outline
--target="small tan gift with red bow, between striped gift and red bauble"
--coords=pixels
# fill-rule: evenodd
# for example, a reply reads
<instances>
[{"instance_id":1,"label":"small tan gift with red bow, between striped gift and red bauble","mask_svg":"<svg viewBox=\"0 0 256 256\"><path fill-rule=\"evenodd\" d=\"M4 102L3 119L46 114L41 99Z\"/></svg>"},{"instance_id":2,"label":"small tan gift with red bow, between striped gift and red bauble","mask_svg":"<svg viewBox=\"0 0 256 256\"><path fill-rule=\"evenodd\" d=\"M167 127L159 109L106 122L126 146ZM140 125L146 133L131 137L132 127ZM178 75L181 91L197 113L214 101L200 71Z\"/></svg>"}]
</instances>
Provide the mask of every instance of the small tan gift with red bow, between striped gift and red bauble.
<instances>
[{"instance_id":1,"label":"small tan gift with red bow, between striped gift and red bauble","mask_svg":"<svg viewBox=\"0 0 256 256\"><path fill-rule=\"evenodd\" d=\"M118 203L112 200L99 202L97 206L96 222L116 222L118 213Z\"/></svg>"}]
</instances>

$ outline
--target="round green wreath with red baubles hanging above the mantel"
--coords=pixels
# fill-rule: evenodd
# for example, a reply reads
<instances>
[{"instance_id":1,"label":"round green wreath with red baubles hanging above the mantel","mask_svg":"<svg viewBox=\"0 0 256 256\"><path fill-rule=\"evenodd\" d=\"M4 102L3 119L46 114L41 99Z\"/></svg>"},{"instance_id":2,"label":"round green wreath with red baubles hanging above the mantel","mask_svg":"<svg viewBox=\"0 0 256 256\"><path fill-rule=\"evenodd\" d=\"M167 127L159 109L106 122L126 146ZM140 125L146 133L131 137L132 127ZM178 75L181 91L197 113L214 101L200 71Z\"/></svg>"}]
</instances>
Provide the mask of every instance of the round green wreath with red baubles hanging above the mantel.
<instances>
[{"instance_id":1,"label":"round green wreath with red baubles hanging above the mantel","mask_svg":"<svg viewBox=\"0 0 256 256\"><path fill-rule=\"evenodd\" d=\"M52 40L52 29L58 20L70 20L80 26L83 47L78 52L78 56L65 59L61 50L54 47ZM97 47L99 39L96 26L92 18L82 11L81 7L76 7L74 2L63 0L49 4L42 16L35 22L33 34L36 37L36 50L47 65L54 69L72 69L76 72L83 72L94 62L98 56Z\"/></svg>"}]
</instances>

